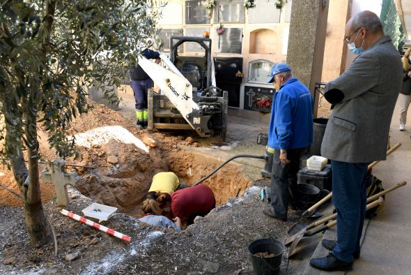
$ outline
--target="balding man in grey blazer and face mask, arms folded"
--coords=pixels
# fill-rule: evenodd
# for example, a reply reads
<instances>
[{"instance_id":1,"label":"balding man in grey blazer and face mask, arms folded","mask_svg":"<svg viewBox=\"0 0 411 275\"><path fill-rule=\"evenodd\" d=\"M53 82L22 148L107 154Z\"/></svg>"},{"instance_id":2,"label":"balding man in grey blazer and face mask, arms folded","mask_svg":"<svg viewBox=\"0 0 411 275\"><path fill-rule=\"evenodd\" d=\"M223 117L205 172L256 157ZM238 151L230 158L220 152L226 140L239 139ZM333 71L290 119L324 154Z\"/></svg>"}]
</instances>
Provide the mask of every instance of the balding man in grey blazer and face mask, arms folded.
<instances>
[{"instance_id":1,"label":"balding man in grey blazer and face mask, arms folded","mask_svg":"<svg viewBox=\"0 0 411 275\"><path fill-rule=\"evenodd\" d=\"M337 241L323 240L332 250L311 266L327 271L352 267L359 257L366 208L363 183L367 166L385 160L389 124L401 89L401 57L384 36L375 13L357 13L346 24L346 43L359 54L350 68L325 87L334 105L321 155L332 160L332 200L337 211Z\"/></svg>"}]
</instances>

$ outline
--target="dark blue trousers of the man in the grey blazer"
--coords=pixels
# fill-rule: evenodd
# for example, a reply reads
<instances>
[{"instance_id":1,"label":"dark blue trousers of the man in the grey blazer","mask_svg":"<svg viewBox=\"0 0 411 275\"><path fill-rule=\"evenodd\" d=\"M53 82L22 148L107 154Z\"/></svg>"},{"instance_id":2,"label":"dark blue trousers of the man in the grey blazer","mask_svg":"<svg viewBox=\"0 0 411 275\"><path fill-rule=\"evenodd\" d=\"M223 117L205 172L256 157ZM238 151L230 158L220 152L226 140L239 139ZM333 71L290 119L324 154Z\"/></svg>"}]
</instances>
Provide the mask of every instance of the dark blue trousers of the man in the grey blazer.
<instances>
[{"instance_id":1,"label":"dark blue trousers of the man in the grey blazer","mask_svg":"<svg viewBox=\"0 0 411 275\"><path fill-rule=\"evenodd\" d=\"M331 161L332 201L337 212L337 245L332 254L343 262L353 262L359 249L366 210L364 176L368 163Z\"/></svg>"}]
</instances>

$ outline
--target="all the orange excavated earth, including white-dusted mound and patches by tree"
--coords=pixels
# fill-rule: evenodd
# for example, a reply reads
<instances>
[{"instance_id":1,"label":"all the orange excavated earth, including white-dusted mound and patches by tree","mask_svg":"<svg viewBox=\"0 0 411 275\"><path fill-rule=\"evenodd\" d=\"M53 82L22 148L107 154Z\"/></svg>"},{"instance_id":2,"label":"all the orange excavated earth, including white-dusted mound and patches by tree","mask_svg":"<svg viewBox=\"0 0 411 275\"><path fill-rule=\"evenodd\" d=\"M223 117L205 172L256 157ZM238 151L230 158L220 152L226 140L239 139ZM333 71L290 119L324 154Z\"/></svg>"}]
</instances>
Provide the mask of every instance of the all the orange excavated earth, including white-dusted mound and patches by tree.
<instances>
[{"instance_id":1,"label":"all the orange excavated earth, including white-dusted mound and patches by tree","mask_svg":"<svg viewBox=\"0 0 411 275\"><path fill-rule=\"evenodd\" d=\"M141 216L141 202L151 179L157 172L175 172L181 183L193 184L217 168L223 160L209 154L181 149L197 147L192 137L148 134L135 131L130 121L104 105L93 103L93 112L77 118L72 125L80 157L67 163L93 166L76 168L81 177L75 184L82 194L118 211ZM47 135L42 135L40 152L45 160L54 160L56 154L49 149ZM71 172L72 168L68 168ZM0 170L0 184L19 193L13 174ZM202 184L215 193L217 205L235 196L242 196L252 182L242 172L242 166L228 163ZM40 182L42 202L55 198L53 184ZM0 189L0 205L21 206L15 195Z\"/></svg>"}]
</instances>

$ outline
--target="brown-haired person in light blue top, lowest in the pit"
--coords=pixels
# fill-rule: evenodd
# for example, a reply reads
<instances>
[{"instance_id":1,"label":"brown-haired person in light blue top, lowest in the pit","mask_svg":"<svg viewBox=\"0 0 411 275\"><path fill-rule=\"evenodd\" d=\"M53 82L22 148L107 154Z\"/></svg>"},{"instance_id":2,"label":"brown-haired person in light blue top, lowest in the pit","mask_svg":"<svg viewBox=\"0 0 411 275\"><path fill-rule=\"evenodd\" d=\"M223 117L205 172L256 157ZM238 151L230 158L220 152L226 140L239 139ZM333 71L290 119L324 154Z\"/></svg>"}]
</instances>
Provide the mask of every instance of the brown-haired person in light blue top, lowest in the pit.
<instances>
[{"instance_id":1,"label":"brown-haired person in light blue top, lowest in the pit","mask_svg":"<svg viewBox=\"0 0 411 275\"><path fill-rule=\"evenodd\" d=\"M171 221L169 218L161 215L160 205L156 200L146 199L141 204L141 209L144 212L143 218L139 218L139 221L148 223L150 225L162 226L163 228L174 228L175 230L181 230L181 220L176 217Z\"/></svg>"}]
</instances>

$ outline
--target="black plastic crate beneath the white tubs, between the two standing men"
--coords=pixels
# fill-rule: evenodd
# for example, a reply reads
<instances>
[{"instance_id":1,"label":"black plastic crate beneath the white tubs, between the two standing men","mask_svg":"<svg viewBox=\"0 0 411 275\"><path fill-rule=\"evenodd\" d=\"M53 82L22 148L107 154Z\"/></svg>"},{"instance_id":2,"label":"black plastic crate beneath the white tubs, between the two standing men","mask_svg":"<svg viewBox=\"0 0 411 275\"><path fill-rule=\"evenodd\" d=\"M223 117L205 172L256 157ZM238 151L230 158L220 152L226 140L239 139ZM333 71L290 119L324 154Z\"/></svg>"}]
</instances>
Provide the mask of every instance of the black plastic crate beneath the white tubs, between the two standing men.
<instances>
[{"instance_id":1,"label":"black plastic crate beneath the white tubs, between the two standing men","mask_svg":"<svg viewBox=\"0 0 411 275\"><path fill-rule=\"evenodd\" d=\"M303 168L298 171L297 177L299 184L311 184L320 189L332 191L332 173L329 164L325 165L322 171L309 170L307 167Z\"/></svg>"}]
</instances>

